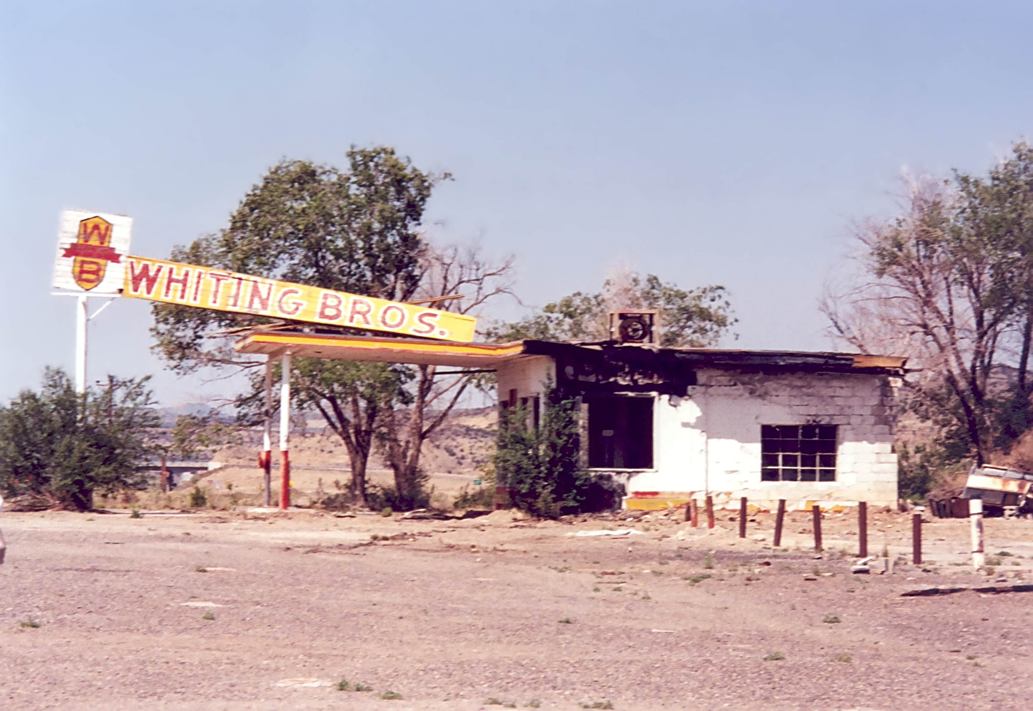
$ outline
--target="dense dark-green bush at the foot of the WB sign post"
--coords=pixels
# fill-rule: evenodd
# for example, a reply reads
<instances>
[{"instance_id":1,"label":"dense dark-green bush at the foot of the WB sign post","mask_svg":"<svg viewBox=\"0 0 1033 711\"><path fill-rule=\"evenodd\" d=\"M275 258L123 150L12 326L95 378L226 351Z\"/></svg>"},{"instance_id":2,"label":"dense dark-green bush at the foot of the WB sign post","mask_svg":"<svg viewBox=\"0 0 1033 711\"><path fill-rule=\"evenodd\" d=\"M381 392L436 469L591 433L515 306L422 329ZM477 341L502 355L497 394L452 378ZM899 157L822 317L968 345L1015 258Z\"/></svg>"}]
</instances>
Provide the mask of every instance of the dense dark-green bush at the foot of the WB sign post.
<instances>
[{"instance_id":1,"label":"dense dark-green bush at the foot of the WB sign post","mask_svg":"<svg viewBox=\"0 0 1033 711\"><path fill-rule=\"evenodd\" d=\"M149 378L109 377L79 394L48 368L39 392L0 408L0 489L27 505L88 511L93 494L137 488L136 466L154 449L159 419Z\"/></svg>"}]
</instances>

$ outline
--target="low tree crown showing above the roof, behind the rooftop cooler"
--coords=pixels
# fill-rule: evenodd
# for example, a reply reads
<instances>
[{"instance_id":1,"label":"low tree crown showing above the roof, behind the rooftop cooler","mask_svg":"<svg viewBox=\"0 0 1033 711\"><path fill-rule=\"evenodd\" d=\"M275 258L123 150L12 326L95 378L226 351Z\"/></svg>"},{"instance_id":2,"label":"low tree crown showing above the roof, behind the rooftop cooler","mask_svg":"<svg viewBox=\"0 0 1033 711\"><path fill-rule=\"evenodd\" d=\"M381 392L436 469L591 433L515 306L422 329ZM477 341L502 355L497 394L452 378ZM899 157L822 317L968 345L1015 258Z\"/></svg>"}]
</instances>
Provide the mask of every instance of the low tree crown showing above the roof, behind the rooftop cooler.
<instances>
[{"instance_id":1,"label":"low tree crown showing above the roof, behind the rooftop cooler","mask_svg":"<svg viewBox=\"0 0 1033 711\"><path fill-rule=\"evenodd\" d=\"M604 341L609 338L608 313L635 308L659 311L664 348L714 346L738 320L723 286L683 289L656 275L643 278L624 270L603 282L599 292L575 291L522 320L497 324L488 335L500 342Z\"/></svg>"}]
</instances>

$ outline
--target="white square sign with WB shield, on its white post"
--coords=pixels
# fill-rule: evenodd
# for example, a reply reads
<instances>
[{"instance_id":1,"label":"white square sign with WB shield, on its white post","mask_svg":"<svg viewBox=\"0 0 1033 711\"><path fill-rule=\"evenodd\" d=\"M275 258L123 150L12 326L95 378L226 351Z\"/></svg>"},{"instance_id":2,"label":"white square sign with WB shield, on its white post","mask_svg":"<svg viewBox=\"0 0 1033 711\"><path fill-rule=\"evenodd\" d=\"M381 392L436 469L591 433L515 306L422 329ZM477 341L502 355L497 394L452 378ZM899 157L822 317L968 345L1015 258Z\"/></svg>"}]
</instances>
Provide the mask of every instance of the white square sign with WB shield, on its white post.
<instances>
[{"instance_id":1,"label":"white square sign with WB shield, on its white post","mask_svg":"<svg viewBox=\"0 0 1033 711\"><path fill-rule=\"evenodd\" d=\"M61 213L54 286L63 289L59 295L77 297L75 390L80 393L86 392L86 327L91 318L88 299L113 298L122 292L131 227L132 218L125 215L80 210Z\"/></svg>"}]
</instances>

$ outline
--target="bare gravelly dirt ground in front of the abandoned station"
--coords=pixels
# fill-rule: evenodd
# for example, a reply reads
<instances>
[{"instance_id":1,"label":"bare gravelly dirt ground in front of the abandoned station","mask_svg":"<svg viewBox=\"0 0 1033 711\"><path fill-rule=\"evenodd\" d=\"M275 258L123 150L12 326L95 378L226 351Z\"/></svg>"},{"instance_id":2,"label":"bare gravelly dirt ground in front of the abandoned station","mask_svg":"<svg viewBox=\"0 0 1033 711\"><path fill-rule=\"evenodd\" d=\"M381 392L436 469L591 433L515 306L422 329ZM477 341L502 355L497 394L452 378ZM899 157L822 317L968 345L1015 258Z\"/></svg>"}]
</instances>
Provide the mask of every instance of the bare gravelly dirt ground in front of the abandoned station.
<instances>
[{"instance_id":1,"label":"bare gravelly dirt ground in front of the abandoned station","mask_svg":"<svg viewBox=\"0 0 1033 711\"><path fill-rule=\"evenodd\" d=\"M1029 582L1033 521L987 522L988 551L1012 554L988 578L964 564L966 521L926 524L928 562L878 576L849 573L852 513L827 516L820 558L809 516L790 516L777 551L773 517L741 539L729 516L709 531L658 515L5 513L0 707L1033 703L1033 593L901 596L1002 573ZM909 555L909 517L871 519L872 552ZM572 535L627 528L640 533ZM371 690L338 690L342 680Z\"/></svg>"}]
</instances>

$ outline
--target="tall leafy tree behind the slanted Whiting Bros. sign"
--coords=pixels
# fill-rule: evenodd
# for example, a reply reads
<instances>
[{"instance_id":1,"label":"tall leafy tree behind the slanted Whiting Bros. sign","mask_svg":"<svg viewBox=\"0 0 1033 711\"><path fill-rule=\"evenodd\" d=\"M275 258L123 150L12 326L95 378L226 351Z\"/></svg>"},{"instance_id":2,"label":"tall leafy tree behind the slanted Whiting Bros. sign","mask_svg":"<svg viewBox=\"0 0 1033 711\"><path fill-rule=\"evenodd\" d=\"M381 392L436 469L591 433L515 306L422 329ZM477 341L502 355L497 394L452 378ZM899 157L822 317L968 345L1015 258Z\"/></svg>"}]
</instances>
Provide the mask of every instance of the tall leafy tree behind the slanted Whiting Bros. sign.
<instances>
[{"instance_id":1,"label":"tall leafy tree behind the slanted Whiting Bros. sign","mask_svg":"<svg viewBox=\"0 0 1033 711\"><path fill-rule=\"evenodd\" d=\"M509 259L489 262L476 248L439 248L424 239L425 206L448 174L424 173L386 147L347 155L348 171L296 160L274 166L225 229L177 248L173 258L393 301L420 300L462 313L509 292ZM435 301L441 297L449 299ZM269 319L166 304L155 305L153 313L156 348L169 367L250 370L250 389L236 401L239 423L250 426L265 415L262 364L234 353L227 340L209 337ZM344 442L353 499L367 503L366 467L381 447L395 470L398 507L420 498L422 442L470 379L440 376L433 366L302 358L292 359L290 377L295 405L319 412ZM197 436L196 428L187 430Z\"/></svg>"}]
</instances>

